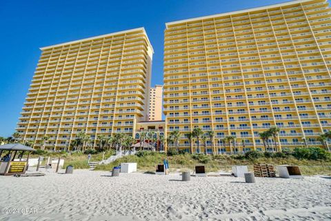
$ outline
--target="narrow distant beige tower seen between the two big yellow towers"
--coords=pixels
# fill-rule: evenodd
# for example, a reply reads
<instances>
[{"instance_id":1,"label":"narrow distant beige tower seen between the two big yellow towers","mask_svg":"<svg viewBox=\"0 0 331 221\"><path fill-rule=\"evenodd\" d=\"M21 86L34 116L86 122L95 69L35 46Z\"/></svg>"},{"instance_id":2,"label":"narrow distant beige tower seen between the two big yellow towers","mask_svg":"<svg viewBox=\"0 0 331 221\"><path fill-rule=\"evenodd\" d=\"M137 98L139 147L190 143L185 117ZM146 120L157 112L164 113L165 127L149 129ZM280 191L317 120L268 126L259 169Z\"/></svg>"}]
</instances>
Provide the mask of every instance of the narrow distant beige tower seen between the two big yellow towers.
<instances>
[{"instance_id":1,"label":"narrow distant beige tower seen between the two big yellow towers","mask_svg":"<svg viewBox=\"0 0 331 221\"><path fill-rule=\"evenodd\" d=\"M155 85L154 88L150 88L150 113L148 115L150 121L162 119L162 93L162 85Z\"/></svg>"}]
</instances>

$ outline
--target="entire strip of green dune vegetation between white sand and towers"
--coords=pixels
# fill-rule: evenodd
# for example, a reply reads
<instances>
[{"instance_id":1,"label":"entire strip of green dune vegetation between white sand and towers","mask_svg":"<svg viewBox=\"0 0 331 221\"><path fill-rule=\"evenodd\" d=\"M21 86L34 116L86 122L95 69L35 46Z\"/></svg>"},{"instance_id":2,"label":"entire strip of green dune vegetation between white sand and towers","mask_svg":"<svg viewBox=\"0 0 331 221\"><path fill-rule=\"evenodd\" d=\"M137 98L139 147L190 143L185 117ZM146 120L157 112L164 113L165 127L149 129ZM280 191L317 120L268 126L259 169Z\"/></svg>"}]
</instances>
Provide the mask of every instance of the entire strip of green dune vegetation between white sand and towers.
<instances>
[{"instance_id":1,"label":"entire strip of green dune vegetation between white sand and towers","mask_svg":"<svg viewBox=\"0 0 331 221\"><path fill-rule=\"evenodd\" d=\"M90 161L99 162L102 160L103 152L90 150L86 150L86 153L38 151L30 157L42 155L45 160L48 156L52 159L61 157L65 161L64 167L72 165L74 169L88 169L90 168L88 166L88 153L92 155ZM104 159L107 159L110 155L114 155L114 151L106 151ZM154 171L155 166L162 164L165 159L169 161L170 171L184 171L187 169L193 171L194 166L201 164L205 165L207 172L231 171L232 165L248 165L250 171L253 171L254 164L265 163L274 166L282 164L298 165L304 175L331 175L330 153L321 148L296 148L292 152L276 153L249 151L245 155L189 154L175 150L168 151L168 153L139 151L136 155L121 157L110 164L98 165L95 170L111 171L114 166L118 166L122 162L137 162L139 171Z\"/></svg>"}]
</instances>

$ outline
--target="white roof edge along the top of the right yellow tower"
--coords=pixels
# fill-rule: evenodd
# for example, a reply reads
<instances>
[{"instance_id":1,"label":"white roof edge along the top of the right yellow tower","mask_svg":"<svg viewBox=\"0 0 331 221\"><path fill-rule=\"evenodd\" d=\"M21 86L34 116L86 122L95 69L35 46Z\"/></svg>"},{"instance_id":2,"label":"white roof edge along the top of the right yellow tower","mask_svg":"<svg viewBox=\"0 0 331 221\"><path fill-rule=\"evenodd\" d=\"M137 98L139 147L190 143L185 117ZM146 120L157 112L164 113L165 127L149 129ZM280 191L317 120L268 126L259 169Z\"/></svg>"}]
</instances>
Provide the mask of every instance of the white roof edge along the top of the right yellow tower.
<instances>
[{"instance_id":1,"label":"white roof edge along the top of the right yellow tower","mask_svg":"<svg viewBox=\"0 0 331 221\"><path fill-rule=\"evenodd\" d=\"M224 12L221 14L215 14L215 15L208 15L208 16L203 16L203 17L196 17L196 18L192 18L192 19L184 19L184 20L179 20L179 21L170 21L165 23L165 27L168 28L168 26L172 26L172 25L176 25L179 23L186 23L186 22L190 22L190 21L197 21L197 20L201 20L201 19L212 19L214 17L222 17L222 16L227 16L227 15L236 15L236 14L241 14L241 13L245 13L245 12L252 12L252 11L256 11L256 10L264 10L267 8L277 8L280 6L290 6L293 4L297 4L297 3L303 3L303 2L308 2L308 1L313 1L313 0L296 0L296 1L285 1L283 3L277 3L277 4L272 4L272 5L268 5L268 6L261 6L261 7L257 7L257 8L247 8L247 9L243 9L243 10L237 10L237 11L232 11L232 12ZM324 0L325 2L327 0Z\"/></svg>"}]
</instances>

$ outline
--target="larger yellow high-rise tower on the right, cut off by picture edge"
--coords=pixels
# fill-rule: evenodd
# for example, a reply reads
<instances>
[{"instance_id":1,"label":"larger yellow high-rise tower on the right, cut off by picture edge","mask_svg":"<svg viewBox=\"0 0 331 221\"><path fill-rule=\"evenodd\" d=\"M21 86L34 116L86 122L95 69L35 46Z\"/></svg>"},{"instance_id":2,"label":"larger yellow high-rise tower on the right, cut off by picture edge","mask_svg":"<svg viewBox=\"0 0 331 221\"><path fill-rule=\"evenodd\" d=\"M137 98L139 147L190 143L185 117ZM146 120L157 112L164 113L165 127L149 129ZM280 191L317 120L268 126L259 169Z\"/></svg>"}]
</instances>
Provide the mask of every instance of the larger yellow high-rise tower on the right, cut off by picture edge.
<instances>
[{"instance_id":1,"label":"larger yellow high-rise tower on the right, cut off by picture edge","mask_svg":"<svg viewBox=\"0 0 331 221\"><path fill-rule=\"evenodd\" d=\"M166 24L168 135L214 131L208 151L321 146L331 128L331 14L325 0L290 1ZM203 142L200 140L201 146ZM277 143L275 143L277 142ZM195 144L194 144L195 145Z\"/></svg>"}]
</instances>

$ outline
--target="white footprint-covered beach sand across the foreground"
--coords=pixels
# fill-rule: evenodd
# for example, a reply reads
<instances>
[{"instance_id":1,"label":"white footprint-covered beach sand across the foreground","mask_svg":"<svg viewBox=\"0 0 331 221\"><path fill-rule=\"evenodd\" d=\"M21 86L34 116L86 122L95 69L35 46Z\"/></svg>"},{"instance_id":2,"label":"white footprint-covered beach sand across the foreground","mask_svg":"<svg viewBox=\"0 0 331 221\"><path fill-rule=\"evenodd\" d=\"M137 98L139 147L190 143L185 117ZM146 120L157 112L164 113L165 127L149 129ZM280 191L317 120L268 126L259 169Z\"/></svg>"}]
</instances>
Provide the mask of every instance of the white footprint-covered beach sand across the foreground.
<instances>
[{"instance_id":1,"label":"white footprint-covered beach sand across the foreground","mask_svg":"<svg viewBox=\"0 0 331 221\"><path fill-rule=\"evenodd\" d=\"M331 220L331 179L191 177L74 170L0 177L0 220Z\"/></svg>"}]
</instances>

